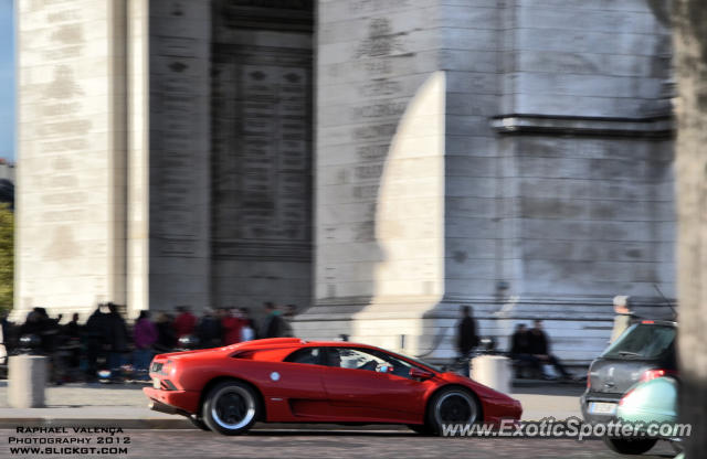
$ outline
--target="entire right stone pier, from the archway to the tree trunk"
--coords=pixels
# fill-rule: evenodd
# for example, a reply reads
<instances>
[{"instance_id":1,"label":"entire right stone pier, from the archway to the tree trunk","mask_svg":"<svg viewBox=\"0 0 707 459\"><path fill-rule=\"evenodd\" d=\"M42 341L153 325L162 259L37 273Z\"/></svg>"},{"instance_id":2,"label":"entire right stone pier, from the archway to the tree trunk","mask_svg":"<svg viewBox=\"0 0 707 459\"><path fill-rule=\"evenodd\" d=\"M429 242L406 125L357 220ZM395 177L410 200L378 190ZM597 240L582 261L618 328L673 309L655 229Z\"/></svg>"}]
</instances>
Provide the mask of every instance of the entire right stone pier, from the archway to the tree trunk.
<instances>
[{"instance_id":1,"label":"entire right stone pier, from the archway to the tree trunk","mask_svg":"<svg viewBox=\"0 0 707 459\"><path fill-rule=\"evenodd\" d=\"M541 318L583 363L614 295L665 313L671 50L647 3L331 0L318 28L305 335L445 359L467 303L502 346Z\"/></svg>"}]
</instances>

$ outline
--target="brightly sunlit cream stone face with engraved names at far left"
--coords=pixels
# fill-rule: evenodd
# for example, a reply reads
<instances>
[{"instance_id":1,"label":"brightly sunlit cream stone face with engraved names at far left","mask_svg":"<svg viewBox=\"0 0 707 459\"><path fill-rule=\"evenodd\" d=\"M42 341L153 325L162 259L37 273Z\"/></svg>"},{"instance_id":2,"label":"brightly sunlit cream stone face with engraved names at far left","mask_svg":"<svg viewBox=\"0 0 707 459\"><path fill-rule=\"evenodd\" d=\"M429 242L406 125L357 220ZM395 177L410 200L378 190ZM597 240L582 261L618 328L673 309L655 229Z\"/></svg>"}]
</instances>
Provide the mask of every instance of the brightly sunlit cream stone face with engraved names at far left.
<instances>
[{"instance_id":1,"label":"brightly sunlit cream stone face with engraved names at far left","mask_svg":"<svg viewBox=\"0 0 707 459\"><path fill-rule=\"evenodd\" d=\"M110 127L101 82L112 56L107 45L99 45L105 38L92 34L107 21L75 1L19 3L19 179L24 186L15 306L88 306L105 295L109 269L98 260L106 259L109 237L109 183L102 177L108 177ZM77 282L67 277L81 282L81 291L72 290Z\"/></svg>"}]
</instances>

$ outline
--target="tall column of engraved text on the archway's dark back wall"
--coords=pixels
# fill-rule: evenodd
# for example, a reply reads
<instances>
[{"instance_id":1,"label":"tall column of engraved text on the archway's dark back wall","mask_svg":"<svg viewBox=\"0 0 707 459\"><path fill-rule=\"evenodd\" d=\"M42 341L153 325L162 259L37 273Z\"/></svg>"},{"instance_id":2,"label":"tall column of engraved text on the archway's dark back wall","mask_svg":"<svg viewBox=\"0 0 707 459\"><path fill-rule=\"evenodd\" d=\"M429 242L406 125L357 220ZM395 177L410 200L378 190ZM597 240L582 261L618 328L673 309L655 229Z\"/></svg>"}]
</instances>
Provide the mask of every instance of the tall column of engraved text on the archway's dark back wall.
<instances>
[{"instance_id":1,"label":"tall column of engraved text on the archway's dark back wall","mask_svg":"<svg viewBox=\"0 0 707 459\"><path fill-rule=\"evenodd\" d=\"M307 236L307 73L304 68L244 65L243 238Z\"/></svg>"}]
</instances>

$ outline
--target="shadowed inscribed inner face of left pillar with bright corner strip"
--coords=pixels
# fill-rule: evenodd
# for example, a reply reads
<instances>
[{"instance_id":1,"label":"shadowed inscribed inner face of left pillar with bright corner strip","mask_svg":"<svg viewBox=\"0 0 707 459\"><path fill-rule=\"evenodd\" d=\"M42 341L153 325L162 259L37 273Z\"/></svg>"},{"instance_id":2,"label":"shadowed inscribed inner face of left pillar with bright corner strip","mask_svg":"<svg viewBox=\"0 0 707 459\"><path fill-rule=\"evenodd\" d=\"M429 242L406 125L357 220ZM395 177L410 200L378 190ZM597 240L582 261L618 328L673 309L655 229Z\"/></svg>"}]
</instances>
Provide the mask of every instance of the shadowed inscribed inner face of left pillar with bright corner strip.
<instances>
[{"instance_id":1,"label":"shadowed inscribed inner face of left pillar with bright corner strip","mask_svg":"<svg viewBox=\"0 0 707 459\"><path fill-rule=\"evenodd\" d=\"M147 11L139 7L136 14L141 14L136 33L144 34L148 46L137 42L140 61L131 62L131 77L148 109L136 102L147 130L134 131L131 152L139 162L131 190L140 206L136 212L146 211L147 223L136 222L131 236L135 255L148 261L131 265L131 280L136 300L148 302L131 308L190 306L199 313L211 302L211 2L151 0ZM145 167L147 171L140 170ZM140 232L145 226L147 247Z\"/></svg>"}]
</instances>

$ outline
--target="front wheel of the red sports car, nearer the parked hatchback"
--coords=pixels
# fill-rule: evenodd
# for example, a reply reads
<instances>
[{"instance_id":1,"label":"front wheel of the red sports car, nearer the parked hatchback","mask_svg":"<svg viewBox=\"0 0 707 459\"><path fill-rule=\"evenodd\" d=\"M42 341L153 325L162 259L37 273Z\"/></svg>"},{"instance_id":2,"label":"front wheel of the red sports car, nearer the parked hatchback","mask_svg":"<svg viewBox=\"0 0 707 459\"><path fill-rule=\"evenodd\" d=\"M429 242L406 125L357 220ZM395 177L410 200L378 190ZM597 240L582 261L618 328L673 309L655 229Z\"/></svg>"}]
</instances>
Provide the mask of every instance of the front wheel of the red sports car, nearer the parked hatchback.
<instances>
[{"instance_id":1,"label":"front wheel of the red sports car, nearer the parked hatchback","mask_svg":"<svg viewBox=\"0 0 707 459\"><path fill-rule=\"evenodd\" d=\"M462 387L449 387L434 394L428 408L428 428L443 435L444 425L474 424L481 418L476 396Z\"/></svg>"}]
</instances>

